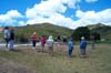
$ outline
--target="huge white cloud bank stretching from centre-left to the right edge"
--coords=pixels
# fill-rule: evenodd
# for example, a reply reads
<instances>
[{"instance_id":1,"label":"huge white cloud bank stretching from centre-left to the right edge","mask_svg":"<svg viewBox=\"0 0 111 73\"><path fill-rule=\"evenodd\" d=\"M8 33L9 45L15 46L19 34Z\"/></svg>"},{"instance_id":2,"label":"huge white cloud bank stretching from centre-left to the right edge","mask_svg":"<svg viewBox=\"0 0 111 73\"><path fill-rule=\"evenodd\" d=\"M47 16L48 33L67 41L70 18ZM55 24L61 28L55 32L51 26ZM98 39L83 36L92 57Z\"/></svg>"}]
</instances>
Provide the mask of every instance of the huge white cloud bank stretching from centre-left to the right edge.
<instances>
[{"instance_id":1,"label":"huge white cloud bank stretching from centre-left to the right edge","mask_svg":"<svg viewBox=\"0 0 111 73\"><path fill-rule=\"evenodd\" d=\"M39 4L34 4L33 8L27 9L26 15L28 18L27 23L43 23L50 22L53 24L68 27L71 29L75 29L77 27L88 25L88 24L95 24L95 23L111 23L111 9L107 9L100 12L95 11L87 11L83 12L81 10L77 10L75 17L79 20L72 20L71 18L65 18L63 14L67 10L65 4L73 3L74 7L78 7L78 2L81 0L47 0L42 1ZM88 1L88 0L87 0ZM89 2L95 2L97 0L89 0ZM72 8L72 6L69 6ZM79 7L78 7L79 8Z\"/></svg>"}]
</instances>

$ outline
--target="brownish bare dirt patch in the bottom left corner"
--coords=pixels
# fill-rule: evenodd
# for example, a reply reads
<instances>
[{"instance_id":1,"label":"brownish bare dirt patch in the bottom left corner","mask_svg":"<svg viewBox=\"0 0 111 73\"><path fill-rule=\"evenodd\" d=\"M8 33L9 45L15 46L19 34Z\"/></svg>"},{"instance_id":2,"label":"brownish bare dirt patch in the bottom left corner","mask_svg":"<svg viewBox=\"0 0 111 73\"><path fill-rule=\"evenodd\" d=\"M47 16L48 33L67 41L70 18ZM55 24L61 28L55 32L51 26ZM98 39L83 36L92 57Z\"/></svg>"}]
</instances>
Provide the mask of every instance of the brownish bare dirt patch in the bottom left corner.
<instances>
[{"instance_id":1,"label":"brownish bare dirt patch in the bottom left corner","mask_svg":"<svg viewBox=\"0 0 111 73\"><path fill-rule=\"evenodd\" d=\"M0 58L0 73L36 73L36 71Z\"/></svg>"}]
</instances>

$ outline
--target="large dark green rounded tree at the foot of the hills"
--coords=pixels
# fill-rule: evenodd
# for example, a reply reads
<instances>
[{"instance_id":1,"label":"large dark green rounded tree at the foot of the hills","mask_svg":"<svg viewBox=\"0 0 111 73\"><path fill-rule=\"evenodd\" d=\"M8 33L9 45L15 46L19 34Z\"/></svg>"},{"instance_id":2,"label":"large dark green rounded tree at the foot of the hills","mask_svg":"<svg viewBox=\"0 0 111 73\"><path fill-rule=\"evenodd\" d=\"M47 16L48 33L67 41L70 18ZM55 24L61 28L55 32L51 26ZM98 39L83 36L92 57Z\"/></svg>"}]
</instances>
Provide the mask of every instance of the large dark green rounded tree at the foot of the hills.
<instances>
[{"instance_id":1,"label":"large dark green rounded tree at the foot of the hills","mask_svg":"<svg viewBox=\"0 0 111 73\"><path fill-rule=\"evenodd\" d=\"M90 30L87 27L79 27L72 33L72 39L79 41L81 36L84 36L87 40L90 39Z\"/></svg>"}]
</instances>

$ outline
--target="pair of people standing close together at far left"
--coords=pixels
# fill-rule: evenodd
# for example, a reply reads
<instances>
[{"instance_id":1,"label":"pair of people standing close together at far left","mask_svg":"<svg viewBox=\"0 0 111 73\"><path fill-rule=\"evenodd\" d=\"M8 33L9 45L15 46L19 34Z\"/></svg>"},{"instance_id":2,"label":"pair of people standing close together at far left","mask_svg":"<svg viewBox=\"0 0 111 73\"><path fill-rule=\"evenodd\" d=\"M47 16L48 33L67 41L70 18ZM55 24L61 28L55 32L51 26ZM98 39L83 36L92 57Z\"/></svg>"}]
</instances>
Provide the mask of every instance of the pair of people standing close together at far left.
<instances>
[{"instance_id":1,"label":"pair of people standing close together at far left","mask_svg":"<svg viewBox=\"0 0 111 73\"><path fill-rule=\"evenodd\" d=\"M9 27L6 27L3 30L3 38L6 40L6 46L9 50L13 50L13 40L14 40L14 31L13 29L9 29Z\"/></svg>"}]
</instances>

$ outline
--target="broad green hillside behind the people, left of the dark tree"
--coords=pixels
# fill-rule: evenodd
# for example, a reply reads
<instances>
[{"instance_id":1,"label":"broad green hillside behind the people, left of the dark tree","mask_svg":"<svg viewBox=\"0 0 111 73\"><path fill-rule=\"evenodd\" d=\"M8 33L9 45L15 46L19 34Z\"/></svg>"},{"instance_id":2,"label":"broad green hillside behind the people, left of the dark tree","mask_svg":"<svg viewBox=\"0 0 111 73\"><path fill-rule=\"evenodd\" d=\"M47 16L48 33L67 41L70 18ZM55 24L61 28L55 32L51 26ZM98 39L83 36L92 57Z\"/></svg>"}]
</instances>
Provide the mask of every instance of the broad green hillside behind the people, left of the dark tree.
<instances>
[{"instance_id":1,"label":"broad green hillside behind the people, left of the dark tree","mask_svg":"<svg viewBox=\"0 0 111 73\"><path fill-rule=\"evenodd\" d=\"M42 23L42 24L28 24L26 27L17 27L14 28L16 30L16 35L18 36L23 36L27 39L30 39L31 34L36 31L37 36L40 38L41 35L46 35L47 38L49 35L53 35L56 39L57 35L67 35L70 36L72 33L72 30L64 28L64 27L59 27L59 25L53 25L50 23Z\"/></svg>"}]
</instances>

